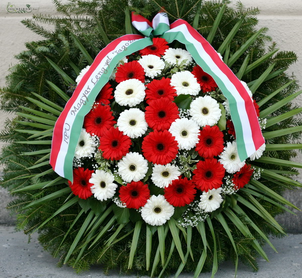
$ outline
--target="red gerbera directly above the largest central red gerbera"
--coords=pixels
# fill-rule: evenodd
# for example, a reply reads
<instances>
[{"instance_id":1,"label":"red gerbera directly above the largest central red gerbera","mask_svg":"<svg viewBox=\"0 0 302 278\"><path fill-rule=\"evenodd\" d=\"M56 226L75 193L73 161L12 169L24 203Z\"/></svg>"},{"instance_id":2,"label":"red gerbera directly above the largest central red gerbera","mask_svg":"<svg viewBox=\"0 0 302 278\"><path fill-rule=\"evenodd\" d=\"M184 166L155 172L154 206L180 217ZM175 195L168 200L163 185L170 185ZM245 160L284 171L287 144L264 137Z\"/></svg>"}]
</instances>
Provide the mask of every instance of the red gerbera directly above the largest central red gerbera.
<instances>
[{"instance_id":1,"label":"red gerbera directly above the largest central red gerbera","mask_svg":"<svg viewBox=\"0 0 302 278\"><path fill-rule=\"evenodd\" d=\"M145 120L148 126L156 130L169 129L179 118L177 105L168 98L154 100L145 109Z\"/></svg>"}]
</instances>

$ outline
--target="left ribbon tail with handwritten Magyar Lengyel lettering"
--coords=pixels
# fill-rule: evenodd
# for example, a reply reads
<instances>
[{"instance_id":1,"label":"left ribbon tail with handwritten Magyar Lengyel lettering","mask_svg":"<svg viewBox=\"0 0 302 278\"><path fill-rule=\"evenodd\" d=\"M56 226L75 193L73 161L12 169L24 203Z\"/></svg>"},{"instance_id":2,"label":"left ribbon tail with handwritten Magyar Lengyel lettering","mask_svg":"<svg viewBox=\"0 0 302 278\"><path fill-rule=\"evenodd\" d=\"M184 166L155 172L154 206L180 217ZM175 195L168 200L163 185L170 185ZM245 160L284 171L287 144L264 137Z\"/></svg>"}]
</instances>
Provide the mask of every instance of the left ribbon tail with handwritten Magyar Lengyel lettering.
<instances>
[{"instance_id":1,"label":"left ribbon tail with handwritten Magyar Lengyel lettering","mask_svg":"<svg viewBox=\"0 0 302 278\"><path fill-rule=\"evenodd\" d=\"M72 161L84 117L91 110L96 97L108 82L115 66L125 56L152 44L150 38L140 35L125 35L112 41L97 55L55 124L50 164L57 174L72 181Z\"/></svg>"}]
</instances>

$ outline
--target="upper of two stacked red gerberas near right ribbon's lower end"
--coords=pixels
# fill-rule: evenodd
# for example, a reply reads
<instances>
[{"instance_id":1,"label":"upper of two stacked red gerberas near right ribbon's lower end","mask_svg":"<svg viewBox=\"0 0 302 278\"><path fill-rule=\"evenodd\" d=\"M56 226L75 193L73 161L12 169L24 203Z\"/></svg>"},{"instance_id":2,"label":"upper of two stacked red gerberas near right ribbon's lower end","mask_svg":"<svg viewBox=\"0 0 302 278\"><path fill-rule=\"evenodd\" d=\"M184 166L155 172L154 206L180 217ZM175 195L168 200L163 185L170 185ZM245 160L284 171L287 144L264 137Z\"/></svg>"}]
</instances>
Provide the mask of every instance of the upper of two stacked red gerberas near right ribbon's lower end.
<instances>
[{"instance_id":1,"label":"upper of two stacked red gerberas near right ribbon's lower end","mask_svg":"<svg viewBox=\"0 0 302 278\"><path fill-rule=\"evenodd\" d=\"M196 145L198 154L205 158L211 158L223 151L223 133L217 126L205 126L198 136Z\"/></svg>"}]
</instances>

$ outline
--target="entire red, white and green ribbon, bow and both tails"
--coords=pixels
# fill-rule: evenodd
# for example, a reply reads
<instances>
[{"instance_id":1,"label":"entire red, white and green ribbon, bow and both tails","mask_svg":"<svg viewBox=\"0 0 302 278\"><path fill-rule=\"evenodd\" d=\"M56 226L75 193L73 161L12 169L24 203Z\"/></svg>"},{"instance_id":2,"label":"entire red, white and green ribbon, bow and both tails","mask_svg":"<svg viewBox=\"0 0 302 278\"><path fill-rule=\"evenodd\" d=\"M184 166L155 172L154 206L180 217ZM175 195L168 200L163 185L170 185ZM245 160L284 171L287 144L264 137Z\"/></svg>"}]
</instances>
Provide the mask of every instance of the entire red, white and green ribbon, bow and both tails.
<instances>
[{"instance_id":1,"label":"entire red, white and green ribbon, bow and both tails","mask_svg":"<svg viewBox=\"0 0 302 278\"><path fill-rule=\"evenodd\" d=\"M50 164L60 176L72 180L72 161L80 138L84 117L117 63L125 56L152 45L153 36L172 43L183 43L195 62L210 74L229 101L240 159L243 161L264 144L257 114L246 88L220 59L214 48L186 21L177 20L171 26L165 13L150 22L132 13L133 26L144 36L125 35L108 44L95 58L89 71L67 102L53 132Z\"/></svg>"}]
</instances>

